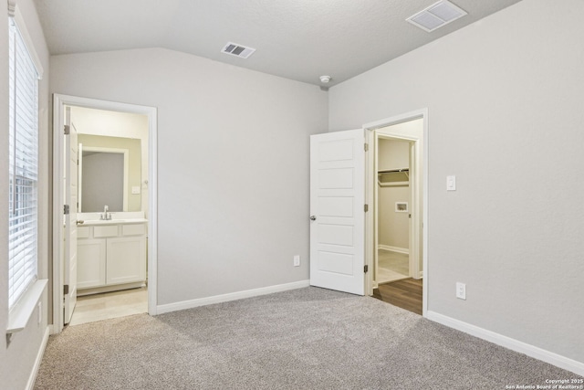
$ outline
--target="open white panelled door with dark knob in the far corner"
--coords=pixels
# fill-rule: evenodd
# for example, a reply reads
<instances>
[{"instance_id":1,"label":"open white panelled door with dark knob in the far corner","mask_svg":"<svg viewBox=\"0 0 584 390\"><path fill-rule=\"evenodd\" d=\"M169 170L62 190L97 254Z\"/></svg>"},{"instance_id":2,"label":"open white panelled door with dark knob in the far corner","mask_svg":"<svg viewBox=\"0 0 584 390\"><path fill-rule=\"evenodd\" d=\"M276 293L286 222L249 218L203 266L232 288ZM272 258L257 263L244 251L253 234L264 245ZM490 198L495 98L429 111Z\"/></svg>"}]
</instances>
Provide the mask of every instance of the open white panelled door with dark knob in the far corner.
<instances>
[{"instance_id":1,"label":"open white panelled door with dark knob in the far corner","mask_svg":"<svg viewBox=\"0 0 584 390\"><path fill-rule=\"evenodd\" d=\"M310 285L365 294L363 130L310 137Z\"/></svg>"}]
</instances>

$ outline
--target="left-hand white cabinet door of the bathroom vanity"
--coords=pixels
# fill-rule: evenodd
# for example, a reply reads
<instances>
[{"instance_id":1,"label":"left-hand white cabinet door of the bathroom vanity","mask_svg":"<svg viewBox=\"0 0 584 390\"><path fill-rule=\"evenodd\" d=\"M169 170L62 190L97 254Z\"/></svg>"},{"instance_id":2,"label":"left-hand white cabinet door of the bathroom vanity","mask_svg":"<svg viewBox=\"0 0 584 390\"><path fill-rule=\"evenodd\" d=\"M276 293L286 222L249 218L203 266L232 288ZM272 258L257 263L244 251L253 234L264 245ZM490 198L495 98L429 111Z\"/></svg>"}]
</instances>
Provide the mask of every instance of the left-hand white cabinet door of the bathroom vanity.
<instances>
[{"instance_id":1,"label":"left-hand white cabinet door of the bathroom vanity","mask_svg":"<svg viewBox=\"0 0 584 390\"><path fill-rule=\"evenodd\" d=\"M78 289L106 284L106 239L79 239L77 246Z\"/></svg>"}]
</instances>

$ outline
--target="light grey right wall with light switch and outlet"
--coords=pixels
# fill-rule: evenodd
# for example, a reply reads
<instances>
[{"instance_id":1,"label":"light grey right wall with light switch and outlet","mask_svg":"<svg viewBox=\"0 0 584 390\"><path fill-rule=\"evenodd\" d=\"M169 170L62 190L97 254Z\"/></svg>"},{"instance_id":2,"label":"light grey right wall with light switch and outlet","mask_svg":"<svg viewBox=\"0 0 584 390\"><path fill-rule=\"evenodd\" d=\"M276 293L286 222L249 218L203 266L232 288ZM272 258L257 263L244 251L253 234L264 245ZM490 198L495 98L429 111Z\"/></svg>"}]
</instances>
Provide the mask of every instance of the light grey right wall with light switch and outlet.
<instances>
[{"instance_id":1,"label":"light grey right wall with light switch and outlet","mask_svg":"<svg viewBox=\"0 0 584 390\"><path fill-rule=\"evenodd\" d=\"M428 108L428 310L578 362L582 15L524 0L329 90L330 131Z\"/></svg>"}]
</instances>

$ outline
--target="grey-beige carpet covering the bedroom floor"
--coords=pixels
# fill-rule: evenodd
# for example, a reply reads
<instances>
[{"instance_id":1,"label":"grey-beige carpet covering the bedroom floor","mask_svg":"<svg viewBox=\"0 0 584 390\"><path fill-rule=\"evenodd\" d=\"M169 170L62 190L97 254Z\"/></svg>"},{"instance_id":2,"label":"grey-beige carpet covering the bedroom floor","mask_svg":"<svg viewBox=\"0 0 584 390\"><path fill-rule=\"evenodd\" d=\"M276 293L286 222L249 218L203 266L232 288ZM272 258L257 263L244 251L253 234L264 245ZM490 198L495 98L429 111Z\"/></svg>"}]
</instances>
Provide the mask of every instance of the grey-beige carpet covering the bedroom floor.
<instances>
[{"instance_id":1,"label":"grey-beige carpet covering the bedroom floor","mask_svg":"<svg viewBox=\"0 0 584 390\"><path fill-rule=\"evenodd\" d=\"M575 378L381 300L318 288L51 336L35 388L504 389Z\"/></svg>"}]
</instances>

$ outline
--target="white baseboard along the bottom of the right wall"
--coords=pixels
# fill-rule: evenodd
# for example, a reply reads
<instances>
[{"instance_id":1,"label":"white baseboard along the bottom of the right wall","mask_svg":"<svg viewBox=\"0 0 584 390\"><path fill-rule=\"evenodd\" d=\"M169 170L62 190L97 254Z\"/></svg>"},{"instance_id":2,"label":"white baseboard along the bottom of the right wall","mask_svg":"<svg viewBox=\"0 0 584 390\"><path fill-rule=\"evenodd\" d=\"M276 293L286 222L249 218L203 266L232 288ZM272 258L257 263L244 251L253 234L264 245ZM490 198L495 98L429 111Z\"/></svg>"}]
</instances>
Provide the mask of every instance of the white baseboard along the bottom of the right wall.
<instances>
[{"instance_id":1,"label":"white baseboard along the bottom of the right wall","mask_svg":"<svg viewBox=\"0 0 584 390\"><path fill-rule=\"evenodd\" d=\"M471 334L475 337L478 337L479 339L486 340L487 342L501 345L502 347L512 351L525 353L527 356L541 360L542 362L546 362L548 364L556 365L559 368L571 371L574 374L584 376L584 363L569 359L568 357L559 355L558 353L546 351L534 345L520 342L499 333L487 331L486 329L479 328L478 326L464 321L455 320L454 318L439 314L434 311L427 311L426 318L438 323L442 323L449 328L454 328L457 331Z\"/></svg>"}]
</instances>

